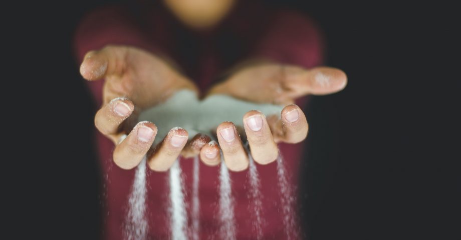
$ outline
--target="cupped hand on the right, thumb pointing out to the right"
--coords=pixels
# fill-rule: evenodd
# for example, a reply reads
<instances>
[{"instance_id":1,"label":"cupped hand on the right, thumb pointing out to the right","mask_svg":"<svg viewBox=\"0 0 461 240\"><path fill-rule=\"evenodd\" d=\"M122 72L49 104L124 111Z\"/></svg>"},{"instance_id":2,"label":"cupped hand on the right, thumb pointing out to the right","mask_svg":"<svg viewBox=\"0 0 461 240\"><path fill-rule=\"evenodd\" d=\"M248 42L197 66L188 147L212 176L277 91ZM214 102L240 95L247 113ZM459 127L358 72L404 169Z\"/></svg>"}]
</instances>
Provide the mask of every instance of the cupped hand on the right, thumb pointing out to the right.
<instances>
[{"instance_id":1,"label":"cupped hand on the right, thumb pointing out to the right","mask_svg":"<svg viewBox=\"0 0 461 240\"><path fill-rule=\"evenodd\" d=\"M346 74L336 68L305 69L293 65L264 63L246 67L214 86L209 94L228 94L248 101L289 104L281 118L264 116L253 110L244 118L246 137L252 157L260 164L273 162L278 156L278 142L298 143L308 132L306 116L294 105L295 99L307 94L323 95L342 90L347 84ZM244 170L249 159L234 123L223 122L217 129L219 146L229 169ZM202 151L207 150L203 147ZM209 164L218 164L218 158L200 155Z\"/></svg>"}]
</instances>

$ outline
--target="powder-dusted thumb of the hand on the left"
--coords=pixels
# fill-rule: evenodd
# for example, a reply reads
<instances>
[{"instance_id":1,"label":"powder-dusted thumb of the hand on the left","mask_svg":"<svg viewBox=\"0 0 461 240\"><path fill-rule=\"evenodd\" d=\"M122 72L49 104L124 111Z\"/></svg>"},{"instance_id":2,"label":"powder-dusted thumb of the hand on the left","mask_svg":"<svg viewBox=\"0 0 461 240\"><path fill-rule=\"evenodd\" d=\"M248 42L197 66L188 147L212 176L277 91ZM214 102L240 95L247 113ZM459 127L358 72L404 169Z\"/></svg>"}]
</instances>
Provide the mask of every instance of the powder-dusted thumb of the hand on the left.
<instances>
[{"instance_id":1,"label":"powder-dusted thumb of the hand on the left","mask_svg":"<svg viewBox=\"0 0 461 240\"><path fill-rule=\"evenodd\" d=\"M85 54L80 74L87 80L98 80L109 74L119 74L125 69L126 46L109 45Z\"/></svg>"}]
</instances>

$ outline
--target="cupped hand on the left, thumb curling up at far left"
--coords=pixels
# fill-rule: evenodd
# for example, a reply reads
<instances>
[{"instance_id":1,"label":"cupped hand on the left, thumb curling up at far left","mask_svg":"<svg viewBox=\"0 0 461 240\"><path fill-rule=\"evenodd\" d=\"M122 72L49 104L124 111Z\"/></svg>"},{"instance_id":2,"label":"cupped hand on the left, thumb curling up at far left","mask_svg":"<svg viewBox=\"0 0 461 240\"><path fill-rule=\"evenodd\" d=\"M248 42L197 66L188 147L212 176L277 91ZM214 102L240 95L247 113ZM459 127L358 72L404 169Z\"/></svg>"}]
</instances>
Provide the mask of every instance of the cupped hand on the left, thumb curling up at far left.
<instances>
[{"instance_id":1,"label":"cupped hand on the left, thumb curling up at far left","mask_svg":"<svg viewBox=\"0 0 461 240\"><path fill-rule=\"evenodd\" d=\"M103 106L96 113L95 125L117 144L114 162L121 168L131 169L147 153L150 168L157 171L169 169L187 143L187 131L173 128L155 150L151 149L157 127L148 121L136 124L137 114L167 99L176 90L186 88L198 92L192 81L158 56L139 48L118 45L89 51L80 66L80 73L88 80L105 78ZM128 132L120 142L121 136ZM186 150L198 154L200 149L190 148L200 148L209 140L208 136L197 135Z\"/></svg>"}]
</instances>

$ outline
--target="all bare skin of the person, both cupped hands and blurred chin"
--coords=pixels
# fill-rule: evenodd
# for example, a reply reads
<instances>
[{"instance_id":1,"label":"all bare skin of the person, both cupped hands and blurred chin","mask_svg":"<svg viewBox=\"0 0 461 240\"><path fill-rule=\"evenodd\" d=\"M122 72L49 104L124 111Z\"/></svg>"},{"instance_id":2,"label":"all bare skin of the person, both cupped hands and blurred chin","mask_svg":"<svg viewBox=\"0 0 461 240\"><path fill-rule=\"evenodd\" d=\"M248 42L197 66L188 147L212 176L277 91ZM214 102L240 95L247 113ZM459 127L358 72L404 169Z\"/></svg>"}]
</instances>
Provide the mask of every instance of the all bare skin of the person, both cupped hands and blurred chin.
<instances>
[{"instance_id":1,"label":"all bare skin of the person, both cupped hands and blurred chin","mask_svg":"<svg viewBox=\"0 0 461 240\"><path fill-rule=\"evenodd\" d=\"M165 0L170 10L186 25L210 28L232 8L234 0ZM115 144L113 160L123 169L131 169L147 156L154 171L166 171L179 156L199 155L209 166L220 163L220 150L230 170L248 168L249 159L239 129L232 122L216 128L218 142L197 134L187 141L188 133L173 128L162 142L151 147L157 134L153 122L136 122L143 109L156 105L179 89L198 88L178 72L165 58L132 46L108 45L89 51L80 66L82 76L90 81L105 79L103 105L95 115L95 125ZM347 84L346 74L336 68L300 66L258 61L239 65L229 77L213 86L207 95L227 94L247 101L288 104L279 116L264 116L259 111L243 117L244 131L252 157L260 164L276 160L278 142L298 143L304 140L308 124L303 111L294 103L304 95L337 92ZM127 135L120 141L123 135Z\"/></svg>"}]
</instances>

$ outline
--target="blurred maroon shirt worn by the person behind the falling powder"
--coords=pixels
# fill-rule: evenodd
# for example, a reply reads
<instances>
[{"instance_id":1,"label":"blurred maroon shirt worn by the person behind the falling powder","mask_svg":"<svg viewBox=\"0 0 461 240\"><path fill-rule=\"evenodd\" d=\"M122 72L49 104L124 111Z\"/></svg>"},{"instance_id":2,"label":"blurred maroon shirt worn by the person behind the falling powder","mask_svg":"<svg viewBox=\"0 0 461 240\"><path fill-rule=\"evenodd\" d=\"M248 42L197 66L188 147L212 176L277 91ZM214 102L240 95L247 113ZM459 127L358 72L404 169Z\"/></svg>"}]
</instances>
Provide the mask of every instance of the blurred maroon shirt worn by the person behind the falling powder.
<instances>
[{"instance_id":1,"label":"blurred maroon shirt worn by the person behind the falling powder","mask_svg":"<svg viewBox=\"0 0 461 240\"><path fill-rule=\"evenodd\" d=\"M101 8L88 14L76 30L74 47L78 62L83 60L87 51L106 44L132 45L153 54L166 54L202 91L226 69L245 59L268 58L304 67L313 67L322 61L321 38L309 19L295 12L270 9L248 1L238 3L224 20L206 31L188 29L161 3ZM88 84L95 101L101 105L103 81ZM305 100L297 103L303 106ZM102 194L105 201L104 237L122 239L135 170L117 167L112 161L114 144L99 132L96 132L96 139L105 176ZM286 159L290 183L296 187L302 143L279 144L279 147ZM185 179L185 201L190 206L192 160L181 159L180 164ZM286 238L276 163L258 165L257 168L261 178L264 238ZM219 238L218 174L219 167L200 163L200 239ZM149 238L167 239L170 231L168 173L149 170L147 178ZM255 238L254 219L248 211L248 170L231 172L231 178L236 200L237 237Z\"/></svg>"}]
</instances>

